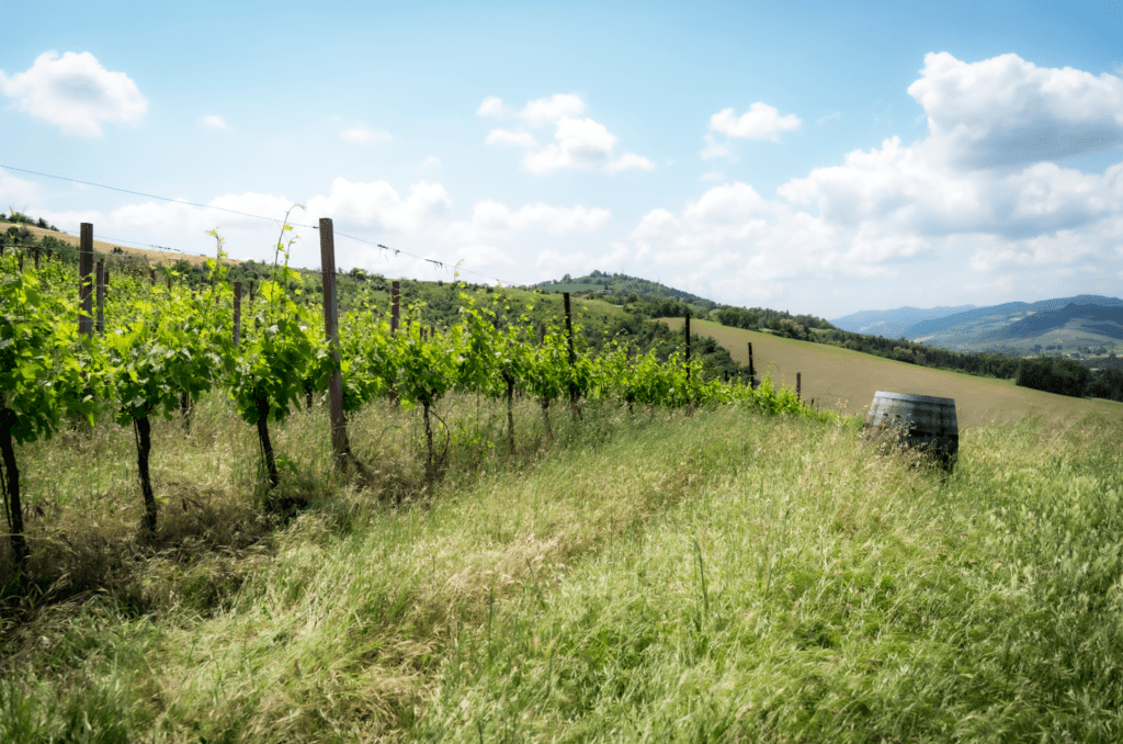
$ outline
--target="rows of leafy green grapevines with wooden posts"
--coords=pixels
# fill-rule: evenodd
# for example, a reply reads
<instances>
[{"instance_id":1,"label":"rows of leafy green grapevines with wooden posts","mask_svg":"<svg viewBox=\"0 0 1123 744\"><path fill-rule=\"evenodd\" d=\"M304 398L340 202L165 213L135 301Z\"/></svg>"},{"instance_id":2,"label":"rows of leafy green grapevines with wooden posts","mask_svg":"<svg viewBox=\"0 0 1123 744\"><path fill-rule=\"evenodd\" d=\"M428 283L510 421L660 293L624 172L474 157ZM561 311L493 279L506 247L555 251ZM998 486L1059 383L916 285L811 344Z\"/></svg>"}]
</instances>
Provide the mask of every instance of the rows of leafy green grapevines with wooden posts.
<instances>
[{"instance_id":1,"label":"rows of leafy green grapevines with wooden posts","mask_svg":"<svg viewBox=\"0 0 1123 744\"><path fill-rule=\"evenodd\" d=\"M161 499L150 477L153 419L181 417L190 428L194 402L212 392L228 397L244 424L256 429L268 491L282 478L273 429L314 399L331 412L337 465L359 480L365 466L350 452L346 416L375 400L417 410L426 482L440 478L451 436L442 401L453 392L505 401L505 432L493 445L512 452L517 398L535 401L549 436L551 417L579 420L587 401L610 401L630 412L736 402L819 416L768 380L755 389L707 378L690 359L688 335L683 352L666 361L654 352L633 355L623 342L597 354L582 348L568 297L564 317L537 326L526 315L512 317L502 291L486 301L462 292L459 323L447 327L426 325L417 303L400 307L396 291L389 306L369 292L336 318L330 220L321 221L326 299L319 307L305 299L304 280L287 265L290 235L285 224L272 275L246 288L245 298L240 282L227 281L217 232L207 282L194 289L171 270L158 278L155 270L121 273L110 281L101 265L93 271L89 251L77 272L71 263L18 247L0 257L0 482L17 565L31 559L18 445L99 420L131 428L144 500L140 527L154 535ZM266 499L266 507L282 503Z\"/></svg>"}]
</instances>

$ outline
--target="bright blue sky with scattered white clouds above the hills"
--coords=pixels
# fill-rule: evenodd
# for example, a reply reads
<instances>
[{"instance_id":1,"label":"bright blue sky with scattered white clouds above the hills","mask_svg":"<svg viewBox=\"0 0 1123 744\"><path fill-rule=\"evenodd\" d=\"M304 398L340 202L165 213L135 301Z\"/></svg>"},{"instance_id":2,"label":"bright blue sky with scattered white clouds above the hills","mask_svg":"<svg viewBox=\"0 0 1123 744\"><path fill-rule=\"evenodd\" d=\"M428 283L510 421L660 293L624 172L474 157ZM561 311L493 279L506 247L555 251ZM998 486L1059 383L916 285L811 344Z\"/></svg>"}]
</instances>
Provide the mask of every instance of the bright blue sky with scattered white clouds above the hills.
<instances>
[{"instance_id":1,"label":"bright blue sky with scattered white clouds above the hills","mask_svg":"<svg viewBox=\"0 0 1123 744\"><path fill-rule=\"evenodd\" d=\"M1123 0L4 6L0 210L69 233L317 267L328 217L344 270L824 318L1123 296Z\"/></svg>"}]
</instances>

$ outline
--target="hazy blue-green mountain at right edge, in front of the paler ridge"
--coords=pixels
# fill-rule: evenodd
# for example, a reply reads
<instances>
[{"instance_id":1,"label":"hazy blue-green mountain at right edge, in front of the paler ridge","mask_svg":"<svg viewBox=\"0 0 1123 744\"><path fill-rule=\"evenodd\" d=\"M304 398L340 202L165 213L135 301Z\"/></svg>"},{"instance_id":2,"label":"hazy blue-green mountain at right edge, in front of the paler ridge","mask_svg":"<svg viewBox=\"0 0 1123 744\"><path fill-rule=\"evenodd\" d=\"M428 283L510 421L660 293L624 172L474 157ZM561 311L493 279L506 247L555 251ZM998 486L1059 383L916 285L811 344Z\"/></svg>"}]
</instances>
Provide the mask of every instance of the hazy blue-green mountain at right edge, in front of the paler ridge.
<instances>
[{"instance_id":1,"label":"hazy blue-green mountain at right edge, in front of the paler ridge","mask_svg":"<svg viewBox=\"0 0 1123 744\"><path fill-rule=\"evenodd\" d=\"M1079 294L1039 302L1006 302L923 320L904 335L910 341L941 348L1015 354L1031 353L1038 344L1114 344L1123 339L1123 300Z\"/></svg>"}]
</instances>

